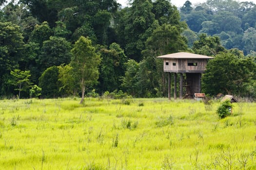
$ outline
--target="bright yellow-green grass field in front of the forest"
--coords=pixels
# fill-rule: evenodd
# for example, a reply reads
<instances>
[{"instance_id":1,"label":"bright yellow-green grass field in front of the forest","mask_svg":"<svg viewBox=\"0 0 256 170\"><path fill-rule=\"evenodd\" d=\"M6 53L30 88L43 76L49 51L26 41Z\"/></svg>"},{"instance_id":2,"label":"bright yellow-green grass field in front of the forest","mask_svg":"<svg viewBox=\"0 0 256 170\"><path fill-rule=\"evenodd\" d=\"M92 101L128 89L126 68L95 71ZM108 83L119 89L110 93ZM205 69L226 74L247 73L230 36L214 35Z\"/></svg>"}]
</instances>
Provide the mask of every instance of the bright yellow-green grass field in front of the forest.
<instances>
[{"instance_id":1,"label":"bright yellow-green grass field in front of the forest","mask_svg":"<svg viewBox=\"0 0 256 170\"><path fill-rule=\"evenodd\" d=\"M0 170L256 169L256 103L0 101Z\"/></svg>"}]
</instances>

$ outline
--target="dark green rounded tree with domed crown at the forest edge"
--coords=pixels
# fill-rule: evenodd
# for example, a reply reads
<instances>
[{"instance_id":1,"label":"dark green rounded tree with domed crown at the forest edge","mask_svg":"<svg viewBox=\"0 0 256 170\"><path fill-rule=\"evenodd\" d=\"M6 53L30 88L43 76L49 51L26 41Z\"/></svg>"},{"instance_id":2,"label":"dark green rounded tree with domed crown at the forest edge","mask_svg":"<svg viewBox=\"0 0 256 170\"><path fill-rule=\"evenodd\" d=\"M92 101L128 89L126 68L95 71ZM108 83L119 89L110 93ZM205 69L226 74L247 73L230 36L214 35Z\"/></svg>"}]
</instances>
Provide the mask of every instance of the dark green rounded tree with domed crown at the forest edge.
<instances>
[{"instance_id":1,"label":"dark green rounded tree with domed crown at the forest edge","mask_svg":"<svg viewBox=\"0 0 256 170\"><path fill-rule=\"evenodd\" d=\"M52 66L43 71L39 77L39 87L42 89L41 95L45 98L59 97L59 69Z\"/></svg>"}]
</instances>

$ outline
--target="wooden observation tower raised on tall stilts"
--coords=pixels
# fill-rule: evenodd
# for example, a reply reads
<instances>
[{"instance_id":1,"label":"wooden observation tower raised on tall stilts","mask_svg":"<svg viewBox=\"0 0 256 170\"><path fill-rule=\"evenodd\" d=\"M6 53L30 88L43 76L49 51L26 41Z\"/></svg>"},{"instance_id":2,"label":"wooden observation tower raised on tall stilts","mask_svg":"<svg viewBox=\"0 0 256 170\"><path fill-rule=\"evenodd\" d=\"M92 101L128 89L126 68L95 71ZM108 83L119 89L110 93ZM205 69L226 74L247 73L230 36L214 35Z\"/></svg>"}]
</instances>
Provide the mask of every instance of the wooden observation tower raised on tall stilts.
<instances>
[{"instance_id":1,"label":"wooden observation tower raised on tall stilts","mask_svg":"<svg viewBox=\"0 0 256 170\"><path fill-rule=\"evenodd\" d=\"M177 52L157 58L163 59L163 70L168 72L168 98L171 99L171 73L174 73L174 99L176 99L177 73L179 73L179 98L182 99L184 92L188 98L193 98L195 93L201 92L201 75L206 70L207 61L213 57Z\"/></svg>"}]
</instances>

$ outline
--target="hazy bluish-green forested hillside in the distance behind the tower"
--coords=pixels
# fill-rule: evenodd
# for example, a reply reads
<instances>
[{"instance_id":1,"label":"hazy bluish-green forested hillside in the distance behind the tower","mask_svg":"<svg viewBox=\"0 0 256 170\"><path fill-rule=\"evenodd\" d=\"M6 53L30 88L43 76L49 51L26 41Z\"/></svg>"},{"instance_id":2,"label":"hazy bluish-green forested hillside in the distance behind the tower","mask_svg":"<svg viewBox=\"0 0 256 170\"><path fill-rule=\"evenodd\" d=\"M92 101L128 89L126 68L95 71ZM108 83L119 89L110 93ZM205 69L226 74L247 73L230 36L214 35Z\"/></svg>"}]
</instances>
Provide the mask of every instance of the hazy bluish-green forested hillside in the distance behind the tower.
<instances>
[{"instance_id":1,"label":"hazy bluish-green forested hillside in the distance behind the tower","mask_svg":"<svg viewBox=\"0 0 256 170\"><path fill-rule=\"evenodd\" d=\"M238 48L245 55L256 51L256 34L253 34L256 31L256 4L253 2L207 0L192 4L187 0L180 8L180 16L197 36L202 33L219 36L226 49Z\"/></svg>"}]
</instances>

